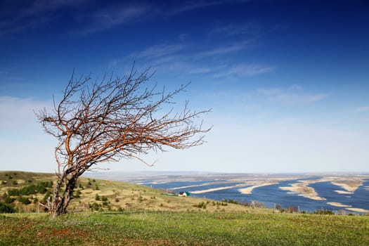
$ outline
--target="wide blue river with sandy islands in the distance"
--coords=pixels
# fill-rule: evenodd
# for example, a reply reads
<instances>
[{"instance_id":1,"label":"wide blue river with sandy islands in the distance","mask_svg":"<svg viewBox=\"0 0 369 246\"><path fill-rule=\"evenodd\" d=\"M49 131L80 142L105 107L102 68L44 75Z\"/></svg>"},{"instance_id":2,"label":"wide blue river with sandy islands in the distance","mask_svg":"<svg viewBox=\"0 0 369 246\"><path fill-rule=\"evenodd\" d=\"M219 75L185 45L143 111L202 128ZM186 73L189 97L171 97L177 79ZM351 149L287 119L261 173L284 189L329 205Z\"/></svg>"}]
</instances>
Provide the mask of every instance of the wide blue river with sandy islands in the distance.
<instances>
[{"instance_id":1,"label":"wide blue river with sandy islands in the distance","mask_svg":"<svg viewBox=\"0 0 369 246\"><path fill-rule=\"evenodd\" d=\"M313 177L309 179L321 179L322 177ZM279 181L279 183L254 188L251 194L243 194L240 188L247 188L244 182L227 180L202 180L202 181L169 181L141 182L145 186L160 188L175 193L189 192L191 196L197 198L209 198L212 200L238 200L238 202L252 202L257 200L263 202L266 207L282 206L284 208L298 207L299 211L314 212L318 209L329 209L346 212L353 212L353 209L359 209L362 212L369 211L369 179L363 179L363 184L359 186L354 193L337 193L336 190L342 190L342 187L332 184L330 181L311 183L308 187L313 188L317 195L323 200L313 200L304 198L299 193L292 193L288 190L282 190L280 187L290 186L292 183L302 182L309 179L296 179L289 181ZM214 189L214 190L211 190ZM200 190L200 193L198 192ZM195 192L195 193L191 193ZM333 205L332 205L333 204ZM347 210L348 209L348 210ZM356 211L360 212L360 211Z\"/></svg>"}]
</instances>

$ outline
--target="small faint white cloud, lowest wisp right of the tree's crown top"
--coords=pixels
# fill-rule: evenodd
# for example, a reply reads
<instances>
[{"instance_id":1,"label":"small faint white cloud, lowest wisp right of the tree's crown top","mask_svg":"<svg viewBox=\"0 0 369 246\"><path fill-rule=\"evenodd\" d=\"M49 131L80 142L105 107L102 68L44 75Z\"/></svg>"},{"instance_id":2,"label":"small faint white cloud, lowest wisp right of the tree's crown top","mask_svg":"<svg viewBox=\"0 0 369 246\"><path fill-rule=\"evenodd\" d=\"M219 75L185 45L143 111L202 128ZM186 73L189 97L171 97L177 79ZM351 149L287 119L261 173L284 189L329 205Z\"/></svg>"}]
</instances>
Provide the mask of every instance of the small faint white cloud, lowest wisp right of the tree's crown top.
<instances>
[{"instance_id":1,"label":"small faint white cloud, lowest wisp right of the tree's crown top","mask_svg":"<svg viewBox=\"0 0 369 246\"><path fill-rule=\"evenodd\" d=\"M271 101L302 104L316 103L329 96L328 93L305 93L300 86L291 86L288 89L258 89L257 93L266 96Z\"/></svg>"}]
</instances>

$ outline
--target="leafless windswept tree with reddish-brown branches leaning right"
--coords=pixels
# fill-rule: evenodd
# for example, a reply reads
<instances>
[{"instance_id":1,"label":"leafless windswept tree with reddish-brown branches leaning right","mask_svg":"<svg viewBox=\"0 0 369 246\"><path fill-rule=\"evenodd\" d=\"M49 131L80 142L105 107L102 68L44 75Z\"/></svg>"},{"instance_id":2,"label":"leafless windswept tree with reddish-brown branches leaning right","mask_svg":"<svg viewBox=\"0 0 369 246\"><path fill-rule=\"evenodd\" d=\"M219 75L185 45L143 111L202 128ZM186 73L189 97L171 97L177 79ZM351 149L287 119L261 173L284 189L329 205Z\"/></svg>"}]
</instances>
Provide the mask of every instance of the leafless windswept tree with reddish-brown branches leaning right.
<instances>
[{"instance_id":1,"label":"leafless windswept tree with reddish-brown branches leaning right","mask_svg":"<svg viewBox=\"0 0 369 246\"><path fill-rule=\"evenodd\" d=\"M127 77L92 82L72 75L53 111L36 113L47 134L58 139L55 158L58 181L48 202L53 216L67 213L77 179L99 162L136 158L149 150L201 145L204 134L198 117L209 110L173 112L171 99L186 86L165 93L148 87L151 74L133 70ZM161 113L162 110L166 110Z\"/></svg>"}]
</instances>

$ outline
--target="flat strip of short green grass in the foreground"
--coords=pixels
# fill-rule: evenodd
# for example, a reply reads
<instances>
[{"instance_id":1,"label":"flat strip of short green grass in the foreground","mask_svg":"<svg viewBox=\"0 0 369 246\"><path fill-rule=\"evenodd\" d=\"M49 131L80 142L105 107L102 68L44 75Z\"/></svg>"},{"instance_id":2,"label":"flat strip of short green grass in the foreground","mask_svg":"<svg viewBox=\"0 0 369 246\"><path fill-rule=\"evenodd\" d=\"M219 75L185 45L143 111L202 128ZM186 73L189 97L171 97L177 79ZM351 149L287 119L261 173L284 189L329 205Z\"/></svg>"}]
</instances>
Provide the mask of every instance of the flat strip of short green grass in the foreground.
<instances>
[{"instance_id":1,"label":"flat strip of short green grass in the foreground","mask_svg":"<svg viewBox=\"0 0 369 246\"><path fill-rule=\"evenodd\" d=\"M7 214L0 245L369 245L368 216L224 212Z\"/></svg>"}]
</instances>

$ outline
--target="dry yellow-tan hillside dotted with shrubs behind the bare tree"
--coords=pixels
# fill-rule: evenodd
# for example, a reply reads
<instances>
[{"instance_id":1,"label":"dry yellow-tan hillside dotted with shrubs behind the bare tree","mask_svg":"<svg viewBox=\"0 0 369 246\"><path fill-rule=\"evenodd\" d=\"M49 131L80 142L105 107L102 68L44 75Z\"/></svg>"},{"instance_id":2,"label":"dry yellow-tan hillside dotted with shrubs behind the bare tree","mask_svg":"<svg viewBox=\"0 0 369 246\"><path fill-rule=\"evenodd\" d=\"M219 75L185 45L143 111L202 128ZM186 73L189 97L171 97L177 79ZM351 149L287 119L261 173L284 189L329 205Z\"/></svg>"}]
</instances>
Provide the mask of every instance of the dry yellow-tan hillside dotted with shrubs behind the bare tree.
<instances>
[{"instance_id":1,"label":"dry yellow-tan hillside dotted with shrubs behind the bare tree","mask_svg":"<svg viewBox=\"0 0 369 246\"><path fill-rule=\"evenodd\" d=\"M0 171L0 194L13 189L37 186L41 182L53 181L54 174L40 174L23 171ZM18 212L40 212L39 205L48 195L51 188L43 193L22 194L22 199L28 199L30 204L22 203L19 195L12 195L12 205ZM72 199L70 212L113 212L113 211L171 211L171 212L268 212L270 209L252 209L226 202L216 202L202 198L178 197L167 194L165 190L157 190L147 186L120 181L99 179L79 179ZM4 195L3 195L4 199Z\"/></svg>"}]
</instances>

